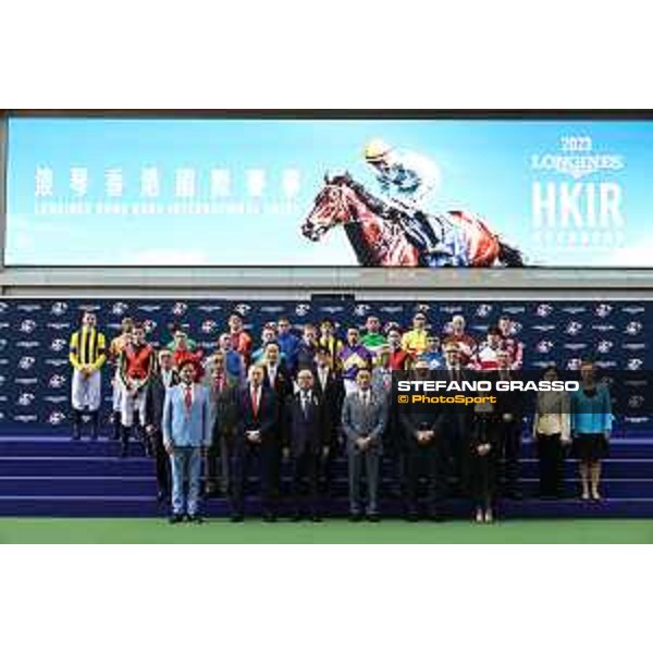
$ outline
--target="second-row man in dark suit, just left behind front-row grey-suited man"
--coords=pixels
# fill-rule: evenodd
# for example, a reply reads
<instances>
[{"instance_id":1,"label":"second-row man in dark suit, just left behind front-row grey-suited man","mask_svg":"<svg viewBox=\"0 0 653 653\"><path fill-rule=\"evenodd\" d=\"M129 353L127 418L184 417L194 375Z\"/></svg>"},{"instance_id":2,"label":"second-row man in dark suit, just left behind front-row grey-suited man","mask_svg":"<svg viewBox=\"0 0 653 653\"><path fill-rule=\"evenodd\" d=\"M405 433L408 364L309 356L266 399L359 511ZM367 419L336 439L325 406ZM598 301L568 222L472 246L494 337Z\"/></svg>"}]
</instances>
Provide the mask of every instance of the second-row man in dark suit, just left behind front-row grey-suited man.
<instances>
[{"instance_id":1,"label":"second-row man in dark suit, just left behind front-row grey-suited man","mask_svg":"<svg viewBox=\"0 0 653 653\"><path fill-rule=\"evenodd\" d=\"M340 451L341 410L345 392L343 382L331 368L329 349L319 347L316 354L313 390L321 398L324 409L326 455L321 459L322 492L332 494L335 458Z\"/></svg>"}]
</instances>

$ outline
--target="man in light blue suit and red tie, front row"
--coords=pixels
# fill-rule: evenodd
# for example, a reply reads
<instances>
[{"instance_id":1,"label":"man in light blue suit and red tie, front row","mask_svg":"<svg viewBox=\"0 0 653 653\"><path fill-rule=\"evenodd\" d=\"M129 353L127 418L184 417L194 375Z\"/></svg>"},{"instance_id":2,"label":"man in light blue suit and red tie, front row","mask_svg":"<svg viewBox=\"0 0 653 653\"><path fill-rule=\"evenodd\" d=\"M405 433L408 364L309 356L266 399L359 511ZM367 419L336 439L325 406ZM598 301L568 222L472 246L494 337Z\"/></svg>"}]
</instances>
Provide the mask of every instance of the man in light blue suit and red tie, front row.
<instances>
[{"instance_id":1,"label":"man in light blue suit and red tie, front row","mask_svg":"<svg viewBox=\"0 0 653 653\"><path fill-rule=\"evenodd\" d=\"M165 393L163 445L172 466L171 523L184 520L201 523L197 514L201 458L211 444L209 392L194 382L196 364L186 360L180 367L181 383ZM187 491L186 491L187 485Z\"/></svg>"}]
</instances>

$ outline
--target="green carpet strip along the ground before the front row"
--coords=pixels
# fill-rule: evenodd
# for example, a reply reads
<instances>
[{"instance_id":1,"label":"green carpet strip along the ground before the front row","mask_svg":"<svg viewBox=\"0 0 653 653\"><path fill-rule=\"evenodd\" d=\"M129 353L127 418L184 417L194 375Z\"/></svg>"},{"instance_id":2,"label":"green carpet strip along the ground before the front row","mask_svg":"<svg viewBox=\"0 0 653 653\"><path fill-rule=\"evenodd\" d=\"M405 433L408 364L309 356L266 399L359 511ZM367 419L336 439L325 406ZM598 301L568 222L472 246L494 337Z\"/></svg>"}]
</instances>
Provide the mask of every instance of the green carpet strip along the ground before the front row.
<instances>
[{"instance_id":1,"label":"green carpet strip along the ground before the front row","mask_svg":"<svg viewBox=\"0 0 653 653\"><path fill-rule=\"evenodd\" d=\"M161 519L0 518L0 543L217 543L217 544L594 544L653 543L651 519L513 520L445 523L230 523L171 526Z\"/></svg>"}]
</instances>

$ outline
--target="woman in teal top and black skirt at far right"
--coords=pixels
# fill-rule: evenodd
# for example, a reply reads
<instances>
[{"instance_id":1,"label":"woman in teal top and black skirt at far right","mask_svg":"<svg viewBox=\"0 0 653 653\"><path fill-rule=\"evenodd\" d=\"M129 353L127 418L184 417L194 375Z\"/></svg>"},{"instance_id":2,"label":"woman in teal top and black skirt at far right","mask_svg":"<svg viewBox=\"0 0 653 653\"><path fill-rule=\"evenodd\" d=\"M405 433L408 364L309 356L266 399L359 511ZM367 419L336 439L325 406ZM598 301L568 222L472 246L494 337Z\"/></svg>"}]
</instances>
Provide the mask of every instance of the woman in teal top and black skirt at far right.
<instances>
[{"instance_id":1,"label":"woman in teal top and black skirt at far right","mask_svg":"<svg viewBox=\"0 0 653 653\"><path fill-rule=\"evenodd\" d=\"M596 383L592 361L580 366L580 390L571 395L571 438L580 461L582 498L599 501L601 460L607 456L612 431L612 403L604 383Z\"/></svg>"}]
</instances>

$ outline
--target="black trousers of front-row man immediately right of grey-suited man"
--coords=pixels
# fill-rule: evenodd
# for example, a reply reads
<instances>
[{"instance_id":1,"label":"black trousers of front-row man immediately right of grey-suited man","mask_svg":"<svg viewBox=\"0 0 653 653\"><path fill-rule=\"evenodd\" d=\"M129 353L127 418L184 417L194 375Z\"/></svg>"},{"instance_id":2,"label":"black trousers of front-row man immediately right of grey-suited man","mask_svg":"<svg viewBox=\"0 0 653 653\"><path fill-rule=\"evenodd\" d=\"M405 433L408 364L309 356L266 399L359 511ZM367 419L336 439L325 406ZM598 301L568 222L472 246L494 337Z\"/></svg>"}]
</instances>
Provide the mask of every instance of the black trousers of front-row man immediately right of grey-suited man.
<instances>
[{"instance_id":1,"label":"black trousers of front-row man immediately right of grey-suited man","mask_svg":"<svg viewBox=\"0 0 653 653\"><path fill-rule=\"evenodd\" d=\"M406 445L406 507L408 513L419 509L419 481L427 481L427 506L431 514L442 512L446 495L446 446L435 436L429 444L419 444L412 438Z\"/></svg>"}]
</instances>

